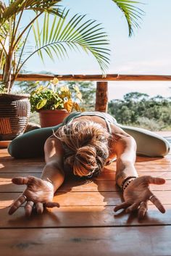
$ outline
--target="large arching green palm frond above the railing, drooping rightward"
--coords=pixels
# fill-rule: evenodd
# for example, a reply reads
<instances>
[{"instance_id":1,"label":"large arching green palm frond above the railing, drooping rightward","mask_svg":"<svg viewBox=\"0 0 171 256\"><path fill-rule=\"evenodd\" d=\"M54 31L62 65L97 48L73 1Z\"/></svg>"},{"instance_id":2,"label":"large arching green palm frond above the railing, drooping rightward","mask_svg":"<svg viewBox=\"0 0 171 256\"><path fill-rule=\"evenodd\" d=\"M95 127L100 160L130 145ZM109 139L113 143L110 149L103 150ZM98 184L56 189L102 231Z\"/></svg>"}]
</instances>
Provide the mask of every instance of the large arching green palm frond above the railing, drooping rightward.
<instances>
[{"instance_id":1,"label":"large arching green palm frond above the railing, drooping rightward","mask_svg":"<svg viewBox=\"0 0 171 256\"><path fill-rule=\"evenodd\" d=\"M35 52L38 52L41 59L44 58L44 53L51 59L54 54L58 59L64 59L68 56L68 50L83 49L86 53L93 54L102 73L105 73L109 65L109 49L106 48L109 40L104 28L95 20L85 20L86 15L74 15L67 21L68 12L62 14L63 18L54 17L52 22L49 22L49 14L45 14L43 28L37 22L34 27Z\"/></svg>"}]
</instances>

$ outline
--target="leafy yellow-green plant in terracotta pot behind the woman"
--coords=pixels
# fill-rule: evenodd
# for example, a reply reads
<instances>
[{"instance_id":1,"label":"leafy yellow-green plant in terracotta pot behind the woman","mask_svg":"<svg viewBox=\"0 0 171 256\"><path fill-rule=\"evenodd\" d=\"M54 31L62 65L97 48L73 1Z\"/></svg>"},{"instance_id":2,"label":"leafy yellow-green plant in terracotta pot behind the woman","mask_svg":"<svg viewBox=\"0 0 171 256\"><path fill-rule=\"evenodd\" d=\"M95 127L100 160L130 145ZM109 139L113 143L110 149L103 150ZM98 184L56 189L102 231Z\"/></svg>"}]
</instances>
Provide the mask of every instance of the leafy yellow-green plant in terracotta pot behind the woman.
<instances>
[{"instance_id":1,"label":"leafy yellow-green plant in terracotta pot behind the woman","mask_svg":"<svg viewBox=\"0 0 171 256\"><path fill-rule=\"evenodd\" d=\"M83 111L78 102L82 95L78 86L58 86L58 79L50 80L43 86L39 82L34 84L30 93L31 112L38 112L41 127L50 127L62 123L73 110Z\"/></svg>"}]
</instances>

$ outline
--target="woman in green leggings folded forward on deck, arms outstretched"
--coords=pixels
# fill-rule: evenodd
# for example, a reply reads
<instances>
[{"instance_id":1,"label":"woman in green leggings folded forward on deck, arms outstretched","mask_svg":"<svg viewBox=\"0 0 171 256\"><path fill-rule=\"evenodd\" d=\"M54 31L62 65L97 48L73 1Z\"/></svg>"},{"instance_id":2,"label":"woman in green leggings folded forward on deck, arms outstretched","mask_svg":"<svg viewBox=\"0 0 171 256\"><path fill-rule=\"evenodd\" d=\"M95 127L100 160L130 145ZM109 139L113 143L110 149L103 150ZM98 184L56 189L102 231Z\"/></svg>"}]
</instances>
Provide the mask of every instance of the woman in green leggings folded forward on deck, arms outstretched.
<instances>
[{"instance_id":1,"label":"woman in green leggings folded forward on deck, arms outstretched","mask_svg":"<svg viewBox=\"0 0 171 256\"><path fill-rule=\"evenodd\" d=\"M12 179L13 183L25 184L27 188L13 202L9 214L25 202L27 216L34 205L38 213L43 212L43 207L59 207L52 202L54 192L69 173L85 178L98 176L104 165L116 157L116 183L123 191L125 202L114 211L138 209L138 218L143 218L150 200L160 212L165 212L149 189L149 183L163 184L164 178L138 177L134 167L136 152L149 157L161 157L169 152L169 144L162 137L140 128L119 125L107 113L74 112L56 127L41 128L17 137L9 145L9 154L17 158L38 157L43 154L43 144L46 165L41 178Z\"/></svg>"}]
</instances>

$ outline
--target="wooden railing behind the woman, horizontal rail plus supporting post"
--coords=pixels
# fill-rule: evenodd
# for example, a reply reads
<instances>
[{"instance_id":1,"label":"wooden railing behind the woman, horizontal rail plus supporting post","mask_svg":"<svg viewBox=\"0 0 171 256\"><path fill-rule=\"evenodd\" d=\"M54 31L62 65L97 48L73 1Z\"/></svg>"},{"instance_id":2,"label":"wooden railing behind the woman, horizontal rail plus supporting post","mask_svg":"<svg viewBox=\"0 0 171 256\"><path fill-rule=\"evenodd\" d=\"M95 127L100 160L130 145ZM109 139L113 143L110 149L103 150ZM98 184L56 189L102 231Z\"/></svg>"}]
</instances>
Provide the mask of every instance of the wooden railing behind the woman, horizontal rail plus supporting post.
<instances>
[{"instance_id":1,"label":"wooden railing behind the woman, horizontal rail plus supporting post","mask_svg":"<svg viewBox=\"0 0 171 256\"><path fill-rule=\"evenodd\" d=\"M96 111L107 112L108 88L107 81L171 81L171 75L46 75L46 74L19 74L16 80L91 80L96 81ZM1 80L1 75L0 75Z\"/></svg>"}]
</instances>

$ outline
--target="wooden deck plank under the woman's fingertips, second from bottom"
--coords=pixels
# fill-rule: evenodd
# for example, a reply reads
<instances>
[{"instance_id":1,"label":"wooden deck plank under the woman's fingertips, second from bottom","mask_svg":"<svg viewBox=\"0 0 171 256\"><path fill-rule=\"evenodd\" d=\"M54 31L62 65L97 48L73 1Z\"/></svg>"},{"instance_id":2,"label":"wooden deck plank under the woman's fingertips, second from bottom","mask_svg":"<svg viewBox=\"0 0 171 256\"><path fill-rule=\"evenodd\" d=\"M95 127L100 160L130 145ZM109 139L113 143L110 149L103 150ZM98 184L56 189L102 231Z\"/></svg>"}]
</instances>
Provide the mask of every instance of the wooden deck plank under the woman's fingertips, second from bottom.
<instances>
[{"instance_id":1,"label":"wooden deck plank under the woman's fingertips, second from bottom","mask_svg":"<svg viewBox=\"0 0 171 256\"><path fill-rule=\"evenodd\" d=\"M93 226L157 226L171 225L171 205L164 205L167 212L162 214L154 205L143 220L138 220L137 212L131 215L120 211L114 212L113 206L59 207L47 209L43 215L33 213L25 217L24 207L14 215L8 215L9 207L0 208L0 228L64 228Z\"/></svg>"}]
</instances>

